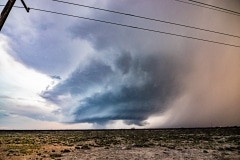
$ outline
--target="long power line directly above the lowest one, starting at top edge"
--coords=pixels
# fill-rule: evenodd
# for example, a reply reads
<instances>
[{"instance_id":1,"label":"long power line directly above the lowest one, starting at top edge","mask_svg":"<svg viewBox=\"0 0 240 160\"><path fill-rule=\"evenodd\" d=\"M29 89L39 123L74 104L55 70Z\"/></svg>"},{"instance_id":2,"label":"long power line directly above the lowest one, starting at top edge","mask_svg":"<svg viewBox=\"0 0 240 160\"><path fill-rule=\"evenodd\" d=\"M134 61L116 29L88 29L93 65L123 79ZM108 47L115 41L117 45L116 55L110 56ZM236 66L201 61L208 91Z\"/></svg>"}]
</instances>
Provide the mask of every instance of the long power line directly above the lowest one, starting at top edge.
<instances>
[{"instance_id":1,"label":"long power line directly above the lowest one, starting at top edge","mask_svg":"<svg viewBox=\"0 0 240 160\"><path fill-rule=\"evenodd\" d=\"M149 17L144 17L144 16L139 16L139 15L134 15L134 14L130 14L130 13L118 12L118 11L113 11L113 10L108 10L108 9L103 9L103 8L98 8L98 7L92 7L92 6L87 6L87 5L82 5L82 4L72 3L72 2L66 2L66 1L62 1L62 0L52 0L52 1L59 2L59 3L70 4L70 5L75 5L75 6L80 6L80 7L85 7L85 8L91 8L91 9L105 11L105 12L111 12L111 13L115 13L115 14L121 14L121 15L125 15L125 16L131 16L131 17L150 20L150 21L155 21L155 22L167 23L167 24L186 27L186 28L192 28L192 29L196 29L196 30L211 32L211 33L215 33L215 34L221 34L221 35L235 37L235 38L240 38L240 36L236 36L236 35L232 35L232 34L228 34L228 33L222 33L222 32L213 31L213 30L209 30L209 29L203 29L203 28L199 28L199 27L188 26L188 25L184 25L184 24L179 24L179 23L174 23L174 22L169 22L169 21L164 21L164 20L159 20L159 19L154 19L154 18L149 18Z\"/></svg>"}]
</instances>

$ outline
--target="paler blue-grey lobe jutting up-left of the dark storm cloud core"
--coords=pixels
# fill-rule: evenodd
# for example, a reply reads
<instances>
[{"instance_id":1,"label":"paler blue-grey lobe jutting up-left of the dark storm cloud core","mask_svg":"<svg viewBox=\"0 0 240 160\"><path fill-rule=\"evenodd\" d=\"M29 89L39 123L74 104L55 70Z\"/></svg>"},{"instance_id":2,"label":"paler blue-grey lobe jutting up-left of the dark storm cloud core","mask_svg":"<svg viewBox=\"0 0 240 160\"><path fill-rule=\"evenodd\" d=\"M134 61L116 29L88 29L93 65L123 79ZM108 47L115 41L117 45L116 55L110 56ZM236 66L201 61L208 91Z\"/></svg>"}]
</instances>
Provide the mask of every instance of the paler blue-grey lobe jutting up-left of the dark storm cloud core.
<instances>
[{"instance_id":1,"label":"paler blue-grey lobe jutting up-left of the dark storm cloud core","mask_svg":"<svg viewBox=\"0 0 240 160\"><path fill-rule=\"evenodd\" d=\"M92 61L85 68L77 68L66 80L60 82L53 90L46 90L41 96L54 103L61 103L58 97L60 95L71 94L76 96L105 83L105 78L112 73L110 66Z\"/></svg>"}]
</instances>

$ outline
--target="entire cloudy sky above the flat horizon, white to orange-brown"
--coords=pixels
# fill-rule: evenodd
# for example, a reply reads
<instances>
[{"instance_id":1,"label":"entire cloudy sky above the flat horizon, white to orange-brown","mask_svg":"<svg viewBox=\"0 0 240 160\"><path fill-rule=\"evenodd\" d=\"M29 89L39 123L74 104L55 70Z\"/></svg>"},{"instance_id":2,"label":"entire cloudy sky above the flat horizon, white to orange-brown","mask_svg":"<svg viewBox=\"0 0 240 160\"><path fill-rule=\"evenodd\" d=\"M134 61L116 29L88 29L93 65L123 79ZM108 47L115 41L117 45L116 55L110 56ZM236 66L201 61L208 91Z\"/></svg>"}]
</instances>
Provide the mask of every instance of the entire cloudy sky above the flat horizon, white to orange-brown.
<instances>
[{"instance_id":1,"label":"entire cloudy sky above the flat horizon, white to orange-brown","mask_svg":"<svg viewBox=\"0 0 240 160\"><path fill-rule=\"evenodd\" d=\"M239 16L175 0L66 1L240 36ZM240 8L238 0L201 2ZM25 3L240 45L236 37L51 0ZM239 126L239 73L239 47L13 8L0 32L0 129Z\"/></svg>"}]
</instances>

